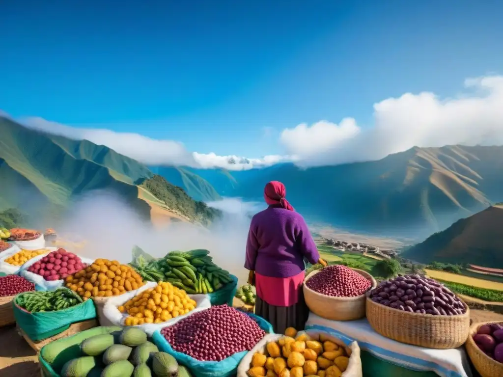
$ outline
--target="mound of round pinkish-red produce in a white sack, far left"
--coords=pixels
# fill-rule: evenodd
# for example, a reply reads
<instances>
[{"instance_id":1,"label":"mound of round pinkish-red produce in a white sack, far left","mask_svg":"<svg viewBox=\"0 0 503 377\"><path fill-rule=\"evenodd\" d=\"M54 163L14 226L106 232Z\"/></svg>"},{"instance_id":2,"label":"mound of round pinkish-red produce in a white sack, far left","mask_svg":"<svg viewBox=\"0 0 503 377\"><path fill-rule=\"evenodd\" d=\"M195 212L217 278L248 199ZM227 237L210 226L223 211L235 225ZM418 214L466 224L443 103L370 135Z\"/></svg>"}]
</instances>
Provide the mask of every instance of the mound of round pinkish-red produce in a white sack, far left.
<instances>
[{"instance_id":1,"label":"mound of round pinkish-red produce in a white sack, far left","mask_svg":"<svg viewBox=\"0 0 503 377\"><path fill-rule=\"evenodd\" d=\"M60 248L33 263L27 270L42 276L45 280L59 280L86 267L87 264L82 263L78 256Z\"/></svg>"}]
</instances>

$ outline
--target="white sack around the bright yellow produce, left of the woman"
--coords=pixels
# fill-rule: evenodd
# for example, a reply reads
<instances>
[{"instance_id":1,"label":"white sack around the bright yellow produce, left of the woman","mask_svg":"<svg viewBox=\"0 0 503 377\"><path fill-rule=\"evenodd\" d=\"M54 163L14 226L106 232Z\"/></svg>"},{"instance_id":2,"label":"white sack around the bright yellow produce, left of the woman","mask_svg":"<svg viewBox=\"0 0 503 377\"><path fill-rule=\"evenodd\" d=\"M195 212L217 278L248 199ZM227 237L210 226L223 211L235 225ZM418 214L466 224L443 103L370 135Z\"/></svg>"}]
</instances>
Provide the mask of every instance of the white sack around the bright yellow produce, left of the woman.
<instances>
[{"instance_id":1,"label":"white sack around the bright yellow produce, left of the woman","mask_svg":"<svg viewBox=\"0 0 503 377\"><path fill-rule=\"evenodd\" d=\"M125 326L124 320L129 317L129 314L119 312L118 307L124 305L143 291L146 291L149 288L155 288L156 286L156 282L149 281L143 287L140 287L135 291L131 291L120 296L107 297L108 300L106 300L105 304L103 305L103 310L98 310L98 321L100 322L100 325ZM177 318L172 318L166 322L145 323L143 325L136 325L134 327L145 331L148 336L152 336L155 330L160 330L163 327L174 325L178 321L190 316L193 313L197 313L201 310L209 309L211 307L211 302L208 295L189 295L189 297L196 302L196 308L191 312L182 316L178 316ZM100 297L100 299L102 298Z\"/></svg>"}]
</instances>

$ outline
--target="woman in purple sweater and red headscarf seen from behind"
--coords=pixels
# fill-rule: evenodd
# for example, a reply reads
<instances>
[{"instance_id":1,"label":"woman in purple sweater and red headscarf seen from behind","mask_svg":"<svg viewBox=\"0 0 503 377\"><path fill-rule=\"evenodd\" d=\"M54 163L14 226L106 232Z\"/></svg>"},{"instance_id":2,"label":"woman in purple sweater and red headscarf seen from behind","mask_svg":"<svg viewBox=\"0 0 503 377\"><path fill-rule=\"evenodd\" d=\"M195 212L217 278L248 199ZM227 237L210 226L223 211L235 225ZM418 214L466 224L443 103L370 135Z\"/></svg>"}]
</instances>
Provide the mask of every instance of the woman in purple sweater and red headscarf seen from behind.
<instances>
[{"instance_id":1,"label":"woman in purple sweater and red headscarf seen from behind","mask_svg":"<svg viewBox=\"0 0 503 377\"><path fill-rule=\"evenodd\" d=\"M269 207L251 219L244 268L248 283L257 288L255 313L268 320L277 334L287 327L303 330L309 314L304 302L304 258L320 258L304 218L285 199L283 183L271 181L264 189Z\"/></svg>"}]
</instances>

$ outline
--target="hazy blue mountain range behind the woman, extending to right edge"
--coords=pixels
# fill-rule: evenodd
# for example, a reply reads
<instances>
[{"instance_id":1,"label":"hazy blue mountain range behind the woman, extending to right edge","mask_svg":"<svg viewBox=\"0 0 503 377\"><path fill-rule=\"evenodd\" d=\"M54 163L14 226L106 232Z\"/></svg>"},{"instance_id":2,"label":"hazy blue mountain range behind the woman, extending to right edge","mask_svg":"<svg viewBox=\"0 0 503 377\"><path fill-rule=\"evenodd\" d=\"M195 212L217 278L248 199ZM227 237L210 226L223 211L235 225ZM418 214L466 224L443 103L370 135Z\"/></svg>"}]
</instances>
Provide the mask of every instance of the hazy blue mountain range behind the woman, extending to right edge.
<instances>
[{"instance_id":1,"label":"hazy blue mountain range behind the woman, extending to right edge","mask_svg":"<svg viewBox=\"0 0 503 377\"><path fill-rule=\"evenodd\" d=\"M291 163L245 171L185 169L219 195L245 200L263 200L264 185L280 180L292 205L313 221L417 239L503 200L502 161L501 146L454 145L308 169Z\"/></svg>"}]
</instances>

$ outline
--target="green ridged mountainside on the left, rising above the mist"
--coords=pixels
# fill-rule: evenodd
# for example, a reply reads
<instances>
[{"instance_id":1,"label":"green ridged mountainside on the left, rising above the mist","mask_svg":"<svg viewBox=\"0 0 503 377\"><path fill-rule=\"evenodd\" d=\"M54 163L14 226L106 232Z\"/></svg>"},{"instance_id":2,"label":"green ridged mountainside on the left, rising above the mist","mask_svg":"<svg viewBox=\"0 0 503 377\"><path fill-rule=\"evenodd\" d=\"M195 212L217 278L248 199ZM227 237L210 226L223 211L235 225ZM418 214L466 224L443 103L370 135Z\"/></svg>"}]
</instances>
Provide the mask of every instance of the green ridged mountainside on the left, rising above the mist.
<instances>
[{"instance_id":1,"label":"green ridged mountainside on the left, rising above the mist","mask_svg":"<svg viewBox=\"0 0 503 377\"><path fill-rule=\"evenodd\" d=\"M108 147L49 135L0 117L0 211L15 208L33 221L52 223L82 194L102 190L118 195L140 218L150 219L155 203L145 200L144 182L153 176L145 165ZM159 192L176 190L165 180L160 186ZM196 222L206 223L215 216L214 210L187 198L180 195L169 205L161 203L162 208L185 211ZM194 218L187 212L190 206L199 206Z\"/></svg>"}]
</instances>

